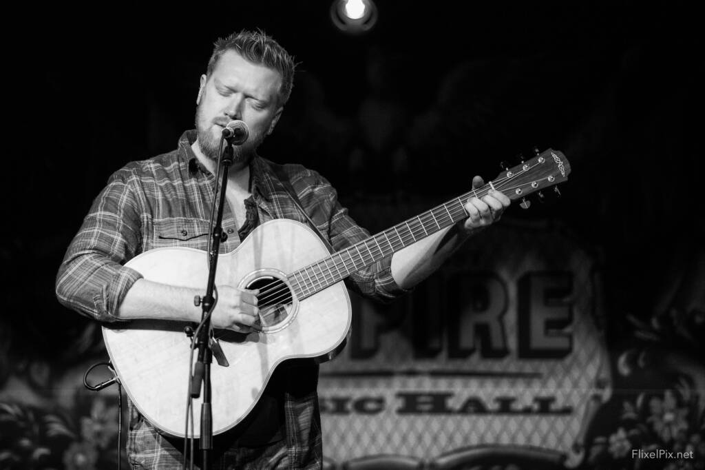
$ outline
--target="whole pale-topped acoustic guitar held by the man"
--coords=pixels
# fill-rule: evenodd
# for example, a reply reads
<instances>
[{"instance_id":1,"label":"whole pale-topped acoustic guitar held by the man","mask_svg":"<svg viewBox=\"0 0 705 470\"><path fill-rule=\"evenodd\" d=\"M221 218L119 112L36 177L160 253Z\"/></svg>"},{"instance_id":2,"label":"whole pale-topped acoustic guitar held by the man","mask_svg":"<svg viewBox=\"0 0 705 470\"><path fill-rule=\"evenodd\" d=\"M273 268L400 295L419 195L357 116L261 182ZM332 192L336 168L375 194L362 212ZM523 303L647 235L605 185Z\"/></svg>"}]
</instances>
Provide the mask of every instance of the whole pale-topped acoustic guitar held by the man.
<instances>
[{"instance_id":1,"label":"whole pale-topped acoustic guitar held by the man","mask_svg":"<svg viewBox=\"0 0 705 470\"><path fill-rule=\"evenodd\" d=\"M351 321L345 277L465 219L463 205L472 196L482 198L496 188L513 200L523 199L565 181L569 173L568 159L549 149L505 169L482 188L337 253L329 253L306 225L276 219L253 230L235 251L219 255L216 285L259 289L262 331L215 332L229 365L212 365L214 435L243 421L279 363L291 358L328 361L343 348ZM155 248L127 266L145 279L179 287L204 287L208 278L207 254L192 248ZM113 367L133 404L154 426L179 437L184 435L188 397L187 325L133 320L103 327ZM195 399L196 409L200 402ZM198 437L198 419L194 431Z\"/></svg>"}]
</instances>

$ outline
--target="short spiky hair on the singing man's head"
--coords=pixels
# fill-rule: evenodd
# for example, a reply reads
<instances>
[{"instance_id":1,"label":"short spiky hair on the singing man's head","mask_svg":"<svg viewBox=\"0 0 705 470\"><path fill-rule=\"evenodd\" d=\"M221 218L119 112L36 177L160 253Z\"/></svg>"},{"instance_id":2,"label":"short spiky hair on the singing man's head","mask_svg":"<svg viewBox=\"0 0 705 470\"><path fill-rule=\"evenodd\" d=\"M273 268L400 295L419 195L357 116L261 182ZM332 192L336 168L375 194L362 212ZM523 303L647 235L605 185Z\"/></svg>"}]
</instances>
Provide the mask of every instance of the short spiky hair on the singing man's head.
<instances>
[{"instance_id":1,"label":"short spiky hair on the singing man's head","mask_svg":"<svg viewBox=\"0 0 705 470\"><path fill-rule=\"evenodd\" d=\"M228 37L221 37L214 42L213 54L208 61L206 76L213 73L218 59L223 52L234 50L243 58L271 69L276 70L281 75L281 87L279 88L279 103L285 104L291 95L294 86L294 63L293 56L290 56L286 49L262 30L233 32Z\"/></svg>"}]
</instances>

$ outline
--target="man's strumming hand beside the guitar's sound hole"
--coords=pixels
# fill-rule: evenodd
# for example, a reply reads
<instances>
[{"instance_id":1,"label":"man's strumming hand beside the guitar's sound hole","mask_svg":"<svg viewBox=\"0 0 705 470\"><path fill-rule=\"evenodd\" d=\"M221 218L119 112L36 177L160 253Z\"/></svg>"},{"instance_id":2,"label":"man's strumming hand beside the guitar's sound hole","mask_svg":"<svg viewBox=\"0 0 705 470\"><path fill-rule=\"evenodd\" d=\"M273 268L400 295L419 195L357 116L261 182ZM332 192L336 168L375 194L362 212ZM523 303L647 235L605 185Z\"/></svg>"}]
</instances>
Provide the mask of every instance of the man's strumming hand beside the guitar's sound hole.
<instances>
[{"instance_id":1,"label":"man's strumming hand beside the guitar's sound hole","mask_svg":"<svg viewBox=\"0 0 705 470\"><path fill-rule=\"evenodd\" d=\"M218 286L218 301L211 317L214 328L224 328L239 333L261 331L257 290Z\"/></svg>"}]
</instances>

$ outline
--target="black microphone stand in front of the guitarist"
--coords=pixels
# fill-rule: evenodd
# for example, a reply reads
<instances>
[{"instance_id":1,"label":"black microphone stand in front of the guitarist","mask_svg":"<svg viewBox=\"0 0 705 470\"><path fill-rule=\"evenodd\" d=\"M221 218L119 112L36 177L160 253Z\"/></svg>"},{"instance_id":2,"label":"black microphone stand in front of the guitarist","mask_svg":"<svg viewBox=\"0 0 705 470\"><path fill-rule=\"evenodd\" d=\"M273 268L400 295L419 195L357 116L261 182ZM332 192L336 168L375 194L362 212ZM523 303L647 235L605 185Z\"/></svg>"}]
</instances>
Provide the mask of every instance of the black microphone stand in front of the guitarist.
<instances>
[{"instance_id":1,"label":"black microphone stand in front of the guitarist","mask_svg":"<svg viewBox=\"0 0 705 470\"><path fill-rule=\"evenodd\" d=\"M201 469L209 470L211 468L211 452L213 450L213 416L211 408L211 363L213 362L213 351L210 346L211 342L211 318L208 315L211 310L214 297L216 267L218 265L218 253L220 251L221 239L225 239L227 235L223 234L223 210L225 207L225 193L228 185L228 171L233 164L233 146L228 139L227 145L223 149L223 179L221 182L220 200L218 203L218 214L216 216L216 224L212 234L212 245L209 253L209 272L208 284L206 287L206 295L196 302L200 302L202 306L202 325L198 337L196 339L196 347L198 348L198 359L194 366L193 376L191 378L191 397L198 398L201 391L201 383L203 384L203 402L201 404L201 438L199 449L202 451ZM216 181L217 183L217 181ZM198 303L197 303L198 304Z\"/></svg>"}]
</instances>

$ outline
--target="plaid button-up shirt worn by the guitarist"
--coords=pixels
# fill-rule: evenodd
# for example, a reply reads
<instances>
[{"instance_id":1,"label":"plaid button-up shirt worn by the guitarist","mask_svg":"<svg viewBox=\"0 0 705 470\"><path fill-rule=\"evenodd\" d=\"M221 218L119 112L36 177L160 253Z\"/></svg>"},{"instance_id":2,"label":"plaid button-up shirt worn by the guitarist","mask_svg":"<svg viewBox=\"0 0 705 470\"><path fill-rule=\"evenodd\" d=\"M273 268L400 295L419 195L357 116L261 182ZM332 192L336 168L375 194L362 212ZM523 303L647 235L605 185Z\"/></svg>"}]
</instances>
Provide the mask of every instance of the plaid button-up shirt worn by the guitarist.
<instances>
[{"instance_id":1,"label":"plaid button-up shirt worn by the guitarist","mask_svg":"<svg viewBox=\"0 0 705 470\"><path fill-rule=\"evenodd\" d=\"M187 131L181 136L177 150L130 162L111 176L106 188L94 200L59 269L56 296L63 305L96 320L119 320L118 306L130 287L142 277L124 266L128 260L162 246L206 249L215 177L198 164L192 152L195 136L195 131ZM336 251L369 236L341 207L335 189L326 179L300 165L284 165L283 171L301 205ZM257 217L249 217L245 223L250 225L249 229L257 221L271 219L308 223L272 171L270 162L255 157L250 174ZM248 212L252 215L252 207ZM223 214L223 229L230 234L238 231L229 207ZM238 236L228 236L221 243L221 253L231 252L239 244ZM350 275L345 282L364 296L391 300L404 290L394 282L390 265L391 258L386 258ZM320 466L321 463L317 367L306 363L297 369L302 367L311 374L310 380L302 383L302 371L297 370L290 374L292 380L285 386L286 444L291 468L302 468L312 462ZM149 458L145 457L142 464L162 468L159 462L168 460L171 453L166 450L168 442L147 421L132 424L133 447L145 447L145 440L154 440L154 448L145 451ZM142 442L137 442L140 440ZM170 468L168 465L163 468Z\"/></svg>"}]
</instances>

